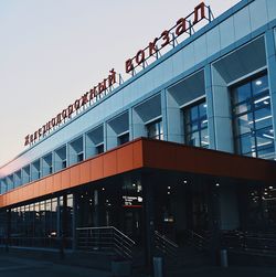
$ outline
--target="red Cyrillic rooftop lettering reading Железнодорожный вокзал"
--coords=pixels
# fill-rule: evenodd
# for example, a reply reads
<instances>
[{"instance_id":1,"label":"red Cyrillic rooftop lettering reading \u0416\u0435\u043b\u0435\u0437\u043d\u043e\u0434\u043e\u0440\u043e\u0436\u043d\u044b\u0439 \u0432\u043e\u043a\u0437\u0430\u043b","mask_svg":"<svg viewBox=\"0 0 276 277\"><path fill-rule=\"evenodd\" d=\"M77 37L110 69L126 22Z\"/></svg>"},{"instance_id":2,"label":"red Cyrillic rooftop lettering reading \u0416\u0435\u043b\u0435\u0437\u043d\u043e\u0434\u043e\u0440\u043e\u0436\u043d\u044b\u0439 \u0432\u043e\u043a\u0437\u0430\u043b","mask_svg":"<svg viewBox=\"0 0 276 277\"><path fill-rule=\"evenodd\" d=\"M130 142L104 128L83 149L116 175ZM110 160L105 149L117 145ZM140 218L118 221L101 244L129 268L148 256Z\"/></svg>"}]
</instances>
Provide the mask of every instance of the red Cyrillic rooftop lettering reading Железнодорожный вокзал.
<instances>
[{"instance_id":1,"label":"red Cyrillic rooftop lettering reading \u0416\u0435\u043b\u0435\u0437\u043d\u043e\u0434\u043e\u0440\u043e\u0436\u043d\u044b\u0439 \u0432\u043e\u043a\u0437\u0430\u043b","mask_svg":"<svg viewBox=\"0 0 276 277\"><path fill-rule=\"evenodd\" d=\"M206 12L208 11L208 12ZM212 12L210 7L205 6L204 2L198 4L193 12L191 12L185 18L181 18L177 21L176 25L173 25L169 30L164 30L159 38L156 38L151 41L147 47L139 50L137 54L128 58L126 61L126 73L131 73L132 75L136 73L136 68L141 66L145 68L146 65L149 64L149 60L151 57L158 58L161 55L161 50L166 49L168 45L172 45L174 47L176 43L178 43L178 39L187 33L192 35L194 32L193 26L198 24L201 20L206 19L211 21ZM121 78L119 75L119 84L121 83ZM117 73L112 70L107 78L104 78L97 86L94 86L81 98L76 99L73 104L68 105L67 108L63 109L60 114L49 120L45 125L39 128L35 132L25 136L24 146L33 145L39 139L43 138L61 124L64 124L67 119L71 119L73 115L78 114L82 109L85 109L87 106L96 103L98 99L103 98L106 94L110 93L113 86L118 84L117 82Z\"/></svg>"}]
</instances>

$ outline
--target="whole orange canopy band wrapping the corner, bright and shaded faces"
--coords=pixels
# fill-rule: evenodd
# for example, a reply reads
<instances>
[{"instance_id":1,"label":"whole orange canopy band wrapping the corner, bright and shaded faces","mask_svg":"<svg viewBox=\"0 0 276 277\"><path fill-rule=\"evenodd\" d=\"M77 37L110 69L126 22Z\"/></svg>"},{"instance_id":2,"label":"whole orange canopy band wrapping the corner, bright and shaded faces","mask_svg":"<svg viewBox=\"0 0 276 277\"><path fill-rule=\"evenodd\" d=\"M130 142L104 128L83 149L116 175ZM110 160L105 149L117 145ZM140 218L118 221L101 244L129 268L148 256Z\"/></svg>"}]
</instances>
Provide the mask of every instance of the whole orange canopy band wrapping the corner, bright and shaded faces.
<instances>
[{"instance_id":1,"label":"whole orange canopy band wrapping the corner, bright and shaded faces","mask_svg":"<svg viewBox=\"0 0 276 277\"><path fill-rule=\"evenodd\" d=\"M0 195L0 207L138 169L161 169L265 183L276 180L276 162L139 138Z\"/></svg>"}]
</instances>

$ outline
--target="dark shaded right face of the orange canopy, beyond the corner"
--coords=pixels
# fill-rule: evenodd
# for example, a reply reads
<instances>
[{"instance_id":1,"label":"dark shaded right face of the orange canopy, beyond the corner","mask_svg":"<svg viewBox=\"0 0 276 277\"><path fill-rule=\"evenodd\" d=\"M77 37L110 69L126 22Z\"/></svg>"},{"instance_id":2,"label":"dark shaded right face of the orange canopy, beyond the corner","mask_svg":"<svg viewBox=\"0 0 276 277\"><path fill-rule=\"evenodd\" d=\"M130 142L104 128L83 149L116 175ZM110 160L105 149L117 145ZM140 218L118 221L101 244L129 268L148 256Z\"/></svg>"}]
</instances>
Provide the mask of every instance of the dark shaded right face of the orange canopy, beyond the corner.
<instances>
[{"instance_id":1,"label":"dark shaded right face of the orange canopy, beyond the corner","mask_svg":"<svg viewBox=\"0 0 276 277\"><path fill-rule=\"evenodd\" d=\"M276 162L221 151L145 140L144 166L217 177L275 182Z\"/></svg>"}]
</instances>

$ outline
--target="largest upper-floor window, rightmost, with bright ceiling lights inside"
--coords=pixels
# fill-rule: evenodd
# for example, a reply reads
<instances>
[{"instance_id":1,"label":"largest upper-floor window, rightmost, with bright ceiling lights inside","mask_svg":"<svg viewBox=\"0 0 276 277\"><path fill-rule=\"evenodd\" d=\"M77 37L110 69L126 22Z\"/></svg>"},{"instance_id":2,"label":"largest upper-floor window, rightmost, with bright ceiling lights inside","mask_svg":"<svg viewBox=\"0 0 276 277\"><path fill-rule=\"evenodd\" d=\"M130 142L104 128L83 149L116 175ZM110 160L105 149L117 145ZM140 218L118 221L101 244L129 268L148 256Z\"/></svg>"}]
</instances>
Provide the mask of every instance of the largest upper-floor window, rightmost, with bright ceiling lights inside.
<instances>
[{"instance_id":1,"label":"largest upper-floor window, rightmost, with bright ceiling lights inside","mask_svg":"<svg viewBox=\"0 0 276 277\"><path fill-rule=\"evenodd\" d=\"M234 87L232 107L236 152L274 159L274 129L267 75Z\"/></svg>"}]
</instances>

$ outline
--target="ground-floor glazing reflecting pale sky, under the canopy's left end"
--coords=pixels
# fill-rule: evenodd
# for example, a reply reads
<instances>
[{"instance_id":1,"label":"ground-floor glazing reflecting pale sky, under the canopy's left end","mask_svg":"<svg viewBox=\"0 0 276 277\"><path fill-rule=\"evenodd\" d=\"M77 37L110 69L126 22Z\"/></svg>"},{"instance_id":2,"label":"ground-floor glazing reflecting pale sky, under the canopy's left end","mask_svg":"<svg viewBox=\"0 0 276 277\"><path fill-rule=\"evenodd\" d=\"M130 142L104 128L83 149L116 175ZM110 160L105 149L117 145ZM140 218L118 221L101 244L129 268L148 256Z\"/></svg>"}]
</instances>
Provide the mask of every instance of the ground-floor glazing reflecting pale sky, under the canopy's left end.
<instances>
[{"instance_id":1,"label":"ground-floor glazing reflecting pale sky, under the canopy's left end","mask_svg":"<svg viewBox=\"0 0 276 277\"><path fill-rule=\"evenodd\" d=\"M64 209L66 206L66 209ZM65 213L65 214L64 214ZM0 214L0 237L8 230L8 214ZM52 198L12 207L10 210L10 245L59 247L59 237L65 237L65 247L72 246L73 195ZM62 231L63 230L63 231Z\"/></svg>"}]
</instances>

